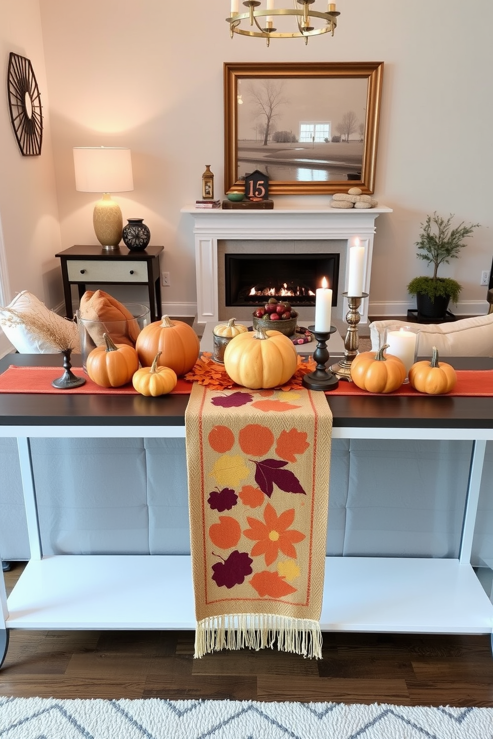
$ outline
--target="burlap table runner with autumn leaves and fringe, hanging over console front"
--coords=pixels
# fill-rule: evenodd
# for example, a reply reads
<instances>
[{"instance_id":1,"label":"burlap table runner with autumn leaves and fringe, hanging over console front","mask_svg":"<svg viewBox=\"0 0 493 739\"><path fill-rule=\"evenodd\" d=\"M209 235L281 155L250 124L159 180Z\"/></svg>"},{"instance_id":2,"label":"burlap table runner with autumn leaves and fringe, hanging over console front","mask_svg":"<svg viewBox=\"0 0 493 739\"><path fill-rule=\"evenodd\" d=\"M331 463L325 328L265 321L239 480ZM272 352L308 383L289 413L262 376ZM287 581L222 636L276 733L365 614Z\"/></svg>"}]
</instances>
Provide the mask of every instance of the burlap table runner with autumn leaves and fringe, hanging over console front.
<instances>
[{"instance_id":1,"label":"burlap table runner with autumn leaves and fringe, hanging over console front","mask_svg":"<svg viewBox=\"0 0 493 739\"><path fill-rule=\"evenodd\" d=\"M322 392L194 383L185 416L195 656L322 656L332 413Z\"/></svg>"}]
</instances>

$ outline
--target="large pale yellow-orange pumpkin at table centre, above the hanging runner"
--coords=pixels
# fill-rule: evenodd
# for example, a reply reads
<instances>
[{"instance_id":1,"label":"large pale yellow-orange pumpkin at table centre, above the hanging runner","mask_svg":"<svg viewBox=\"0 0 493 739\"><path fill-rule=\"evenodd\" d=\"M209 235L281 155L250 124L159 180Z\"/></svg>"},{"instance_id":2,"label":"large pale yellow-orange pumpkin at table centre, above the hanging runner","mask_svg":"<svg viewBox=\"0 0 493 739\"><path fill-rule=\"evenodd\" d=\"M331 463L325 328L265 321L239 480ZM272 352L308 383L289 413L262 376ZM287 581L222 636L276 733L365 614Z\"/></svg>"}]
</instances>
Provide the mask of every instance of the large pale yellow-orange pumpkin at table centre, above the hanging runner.
<instances>
[{"instance_id":1,"label":"large pale yellow-orange pumpkin at table centre, above the hanging runner","mask_svg":"<svg viewBox=\"0 0 493 739\"><path fill-rule=\"evenodd\" d=\"M280 331L239 333L224 350L224 368L228 376L253 390L284 385L293 377L298 355L288 336Z\"/></svg>"}]
</instances>

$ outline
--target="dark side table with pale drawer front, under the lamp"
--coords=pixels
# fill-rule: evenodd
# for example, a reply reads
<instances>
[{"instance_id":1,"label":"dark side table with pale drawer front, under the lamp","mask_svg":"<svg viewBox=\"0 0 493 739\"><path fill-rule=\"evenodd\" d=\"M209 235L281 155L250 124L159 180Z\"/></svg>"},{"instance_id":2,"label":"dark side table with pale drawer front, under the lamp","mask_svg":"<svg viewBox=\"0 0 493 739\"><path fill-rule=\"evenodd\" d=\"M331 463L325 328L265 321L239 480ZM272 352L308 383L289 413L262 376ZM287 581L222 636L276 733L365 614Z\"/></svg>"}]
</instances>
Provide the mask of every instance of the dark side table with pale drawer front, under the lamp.
<instances>
[{"instance_id":1,"label":"dark side table with pale drawer front, under the lamp","mask_svg":"<svg viewBox=\"0 0 493 739\"><path fill-rule=\"evenodd\" d=\"M73 318L72 285L77 285L79 300L86 285L147 285L151 321L161 315L159 255L162 246L148 246L145 251L104 251L101 246L71 246L59 251L64 282L65 313Z\"/></svg>"}]
</instances>

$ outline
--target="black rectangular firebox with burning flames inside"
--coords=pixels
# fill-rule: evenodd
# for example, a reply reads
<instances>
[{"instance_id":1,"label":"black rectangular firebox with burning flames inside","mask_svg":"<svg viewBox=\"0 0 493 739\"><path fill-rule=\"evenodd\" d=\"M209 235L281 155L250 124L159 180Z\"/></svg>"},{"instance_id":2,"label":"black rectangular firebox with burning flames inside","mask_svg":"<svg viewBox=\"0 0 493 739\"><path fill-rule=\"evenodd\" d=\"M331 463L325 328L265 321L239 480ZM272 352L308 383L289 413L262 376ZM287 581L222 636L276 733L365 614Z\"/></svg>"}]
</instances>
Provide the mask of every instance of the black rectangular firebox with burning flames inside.
<instances>
[{"instance_id":1,"label":"black rectangular firebox with burning flames inside","mask_svg":"<svg viewBox=\"0 0 493 739\"><path fill-rule=\"evenodd\" d=\"M256 307L269 298L313 307L324 277L337 305L339 254L225 253L224 259L225 307Z\"/></svg>"}]
</instances>

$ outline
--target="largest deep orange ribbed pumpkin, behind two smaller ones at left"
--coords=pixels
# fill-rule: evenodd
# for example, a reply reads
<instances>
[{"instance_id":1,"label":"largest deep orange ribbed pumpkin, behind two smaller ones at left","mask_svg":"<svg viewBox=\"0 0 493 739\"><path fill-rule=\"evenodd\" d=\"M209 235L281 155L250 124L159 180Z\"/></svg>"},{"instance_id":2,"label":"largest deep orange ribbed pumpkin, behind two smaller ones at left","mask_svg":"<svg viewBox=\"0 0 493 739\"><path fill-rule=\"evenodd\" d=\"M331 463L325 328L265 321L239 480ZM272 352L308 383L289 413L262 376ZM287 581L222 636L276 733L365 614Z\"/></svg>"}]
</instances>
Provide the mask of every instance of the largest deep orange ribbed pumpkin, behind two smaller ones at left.
<instances>
[{"instance_id":1,"label":"largest deep orange ribbed pumpkin, behind two smaller ones at left","mask_svg":"<svg viewBox=\"0 0 493 739\"><path fill-rule=\"evenodd\" d=\"M169 316L163 316L140 331L135 349L143 367L150 367L160 352L159 367L170 367L177 375L185 375L197 361L200 341L184 321L171 321Z\"/></svg>"}]
</instances>

